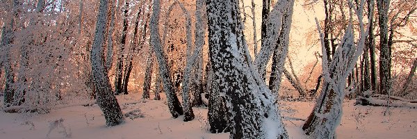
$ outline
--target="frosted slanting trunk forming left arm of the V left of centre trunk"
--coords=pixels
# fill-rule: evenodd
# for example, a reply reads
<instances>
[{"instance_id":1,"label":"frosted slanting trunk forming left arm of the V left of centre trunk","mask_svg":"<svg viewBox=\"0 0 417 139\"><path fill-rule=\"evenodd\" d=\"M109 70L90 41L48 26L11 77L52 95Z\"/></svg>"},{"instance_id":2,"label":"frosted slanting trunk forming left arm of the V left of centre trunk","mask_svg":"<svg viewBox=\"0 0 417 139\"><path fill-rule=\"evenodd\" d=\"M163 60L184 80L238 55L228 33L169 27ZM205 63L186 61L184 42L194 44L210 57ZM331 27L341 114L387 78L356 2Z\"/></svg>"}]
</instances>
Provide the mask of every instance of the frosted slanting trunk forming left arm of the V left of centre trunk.
<instances>
[{"instance_id":1,"label":"frosted slanting trunk forming left arm of the V left of centre trunk","mask_svg":"<svg viewBox=\"0 0 417 139\"><path fill-rule=\"evenodd\" d=\"M177 118L179 115L183 115L183 109L179 104L177 95L174 92L172 87L172 81L170 77L170 69L167 65L167 57L162 49L161 37L159 36L159 13L161 11L160 0L155 0L153 7L153 13L151 17L151 22L149 24L151 31L151 46L154 49L155 56L158 60L159 65L159 74L163 82L163 89L165 90L165 95L167 96L168 108L170 108L170 113L172 117Z\"/></svg>"}]
</instances>

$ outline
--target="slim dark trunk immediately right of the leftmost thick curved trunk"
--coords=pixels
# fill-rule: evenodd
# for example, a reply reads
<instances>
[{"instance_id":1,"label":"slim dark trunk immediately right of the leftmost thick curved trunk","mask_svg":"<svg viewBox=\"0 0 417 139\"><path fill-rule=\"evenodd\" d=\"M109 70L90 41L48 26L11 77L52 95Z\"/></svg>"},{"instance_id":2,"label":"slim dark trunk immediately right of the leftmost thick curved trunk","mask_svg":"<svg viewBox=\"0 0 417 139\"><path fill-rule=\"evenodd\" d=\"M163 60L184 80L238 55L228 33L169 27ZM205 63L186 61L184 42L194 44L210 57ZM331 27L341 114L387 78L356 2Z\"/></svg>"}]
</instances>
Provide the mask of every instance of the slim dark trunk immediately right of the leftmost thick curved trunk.
<instances>
[{"instance_id":1,"label":"slim dark trunk immediately right of the leftmost thick curved trunk","mask_svg":"<svg viewBox=\"0 0 417 139\"><path fill-rule=\"evenodd\" d=\"M124 19L123 19L123 31L122 31L122 40L120 42L120 51L119 51L119 57L117 58L117 68L116 68L116 76L115 76L115 93L116 95L122 94L123 87L122 87L122 81L123 81L123 60L124 60L124 47L126 47L126 35L127 35L127 28L129 27L128 24L128 12L129 12L129 1L125 0L124 3Z\"/></svg>"}]
</instances>

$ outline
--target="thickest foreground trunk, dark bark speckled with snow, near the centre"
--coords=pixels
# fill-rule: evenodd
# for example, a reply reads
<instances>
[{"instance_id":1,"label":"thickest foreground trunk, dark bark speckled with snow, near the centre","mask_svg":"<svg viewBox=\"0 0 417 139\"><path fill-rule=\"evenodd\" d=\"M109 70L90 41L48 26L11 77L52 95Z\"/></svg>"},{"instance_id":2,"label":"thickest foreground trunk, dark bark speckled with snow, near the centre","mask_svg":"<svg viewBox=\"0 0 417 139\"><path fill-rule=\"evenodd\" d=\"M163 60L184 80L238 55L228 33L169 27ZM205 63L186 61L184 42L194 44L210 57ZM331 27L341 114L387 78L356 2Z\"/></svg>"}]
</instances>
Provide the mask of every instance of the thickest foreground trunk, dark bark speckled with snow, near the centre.
<instances>
[{"instance_id":1,"label":"thickest foreground trunk, dark bark speckled with snow, near the centre","mask_svg":"<svg viewBox=\"0 0 417 139\"><path fill-rule=\"evenodd\" d=\"M237 0L207 1L213 81L226 99L230 138L288 138L275 97L252 65Z\"/></svg>"}]
</instances>

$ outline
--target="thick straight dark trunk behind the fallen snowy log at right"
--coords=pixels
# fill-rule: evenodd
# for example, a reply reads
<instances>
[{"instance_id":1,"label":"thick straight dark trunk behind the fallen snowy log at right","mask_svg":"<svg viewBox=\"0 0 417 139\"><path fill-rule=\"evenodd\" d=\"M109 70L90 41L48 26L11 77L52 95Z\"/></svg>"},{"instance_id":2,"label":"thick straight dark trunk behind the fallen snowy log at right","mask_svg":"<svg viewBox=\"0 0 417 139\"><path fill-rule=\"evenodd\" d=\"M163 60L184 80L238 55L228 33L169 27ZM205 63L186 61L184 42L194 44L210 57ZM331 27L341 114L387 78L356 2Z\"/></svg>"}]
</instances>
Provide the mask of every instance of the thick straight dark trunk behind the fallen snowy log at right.
<instances>
[{"instance_id":1,"label":"thick straight dark trunk behind the fallen snowy log at right","mask_svg":"<svg viewBox=\"0 0 417 139\"><path fill-rule=\"evenodd\" d=\"M391 45L389 44L388 20L390 0L377 0L380 28L379 46L379 93L389 95L391 88Z\"/></svg>"}]
</instances>

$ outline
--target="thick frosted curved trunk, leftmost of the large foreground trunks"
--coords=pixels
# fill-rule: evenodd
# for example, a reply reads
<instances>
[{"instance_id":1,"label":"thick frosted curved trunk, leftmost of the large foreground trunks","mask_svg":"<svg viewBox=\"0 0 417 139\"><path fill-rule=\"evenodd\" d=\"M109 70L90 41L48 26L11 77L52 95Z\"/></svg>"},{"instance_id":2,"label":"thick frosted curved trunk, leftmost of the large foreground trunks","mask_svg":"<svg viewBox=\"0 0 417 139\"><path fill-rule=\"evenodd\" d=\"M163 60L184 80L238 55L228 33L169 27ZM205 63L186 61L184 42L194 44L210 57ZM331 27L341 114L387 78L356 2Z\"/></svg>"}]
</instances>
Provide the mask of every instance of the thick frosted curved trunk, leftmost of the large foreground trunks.
<instances>
[{"instance_id":1,"label":"thick frosted curved trunk, leftmost of the large foreground trunks","mask_svg":"<svg viewBox=\"0 0 417 139\"><path fill-rule=\"evenodd\" d=\"M99 6L99 15L97 15L97 24L95 37L91 50L92 79L94 80L95 90L97 92L97 104L101 108L106 118L107 126L115 126L124 122L122 110L119 103L111 90L108 73L104 66L104 35L106 33L108 14L108 0L101 0Z\"/></svg>"}]
</instances>

